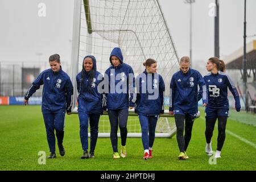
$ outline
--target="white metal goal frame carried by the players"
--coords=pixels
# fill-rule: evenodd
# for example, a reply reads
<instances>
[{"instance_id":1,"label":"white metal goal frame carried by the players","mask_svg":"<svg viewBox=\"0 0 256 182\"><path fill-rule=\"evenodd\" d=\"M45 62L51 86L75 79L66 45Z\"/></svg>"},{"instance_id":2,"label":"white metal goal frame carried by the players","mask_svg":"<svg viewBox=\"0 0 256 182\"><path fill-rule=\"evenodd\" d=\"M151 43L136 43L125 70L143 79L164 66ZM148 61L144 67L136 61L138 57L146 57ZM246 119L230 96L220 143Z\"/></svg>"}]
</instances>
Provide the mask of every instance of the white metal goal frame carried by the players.
<instances>
[{"instance_id":1,"label":"white metal goal frame carried by the players","mask_svg":"<svg viewBox=\"0 0 256 182\"><path fill-rule=\"evenodd\" d=\"M88 0L84 0L84 3L87 3ZM161 7L159 5L159 2L156 1L158 3L159 9L160 9L160 13L162 14L162 18L164 19ZM73 114L77 114L77 107L76 107L76 98L77 98L77 92L76 92L76 75L77 75L77 71L79 69L79 49L80 49L80 28L81 28L81 8L82 8L82 2L81 0L76 0L75 4L74 4L74 15L73 15L73 40L72 40L72 83L73 83L73 87L74 87L74 95L73 95L73 99L72 99L72 113ZM89 45L92 44L92 32L97 32L97 31L101 31L101 30L92 30L92 25L90 24L90 13L89 13L89 9L85 9L86 12L86 23L87 23L87 27L88 27L88 32L87 32L87 38L86 38L86 42L88 42ZM171 35L170 32L168 30L168 26L166 23L166 20L164 20L164 24L165 24L165 28L167 28L167 32L168 32L168 36L171 40L172 46L174 48L174 55L176 56L176 60L179 60L178 56L177 56L177 52L176 49L174 47L174 44L172 42L171 39ZM109 30L108 30L109 31ZM133 30L111 30L111 31L129 31L132 32L134 34L135 37L137 37L136 33ZM138 37L137 37L138 39ZM90 46L86 46L86 55L90 55L92 52L92 47ZM142 50L143 53L143 50ZM144 53L143 53L144 55ZM146 56L144 55L144 59L146 60ZM166 83L167 84L167 83ZM108 115L108 113L106 111L104 111L104 115ZM137 113L134 113L134 111L129 111L129 115L137 115ZM174 117L173 115L169 115L168 114L168 110L164 110L164 114L160 115L160 119L162 118L170 118L170 117ZM166 126L167 126L167 133L155 133L155 137L164 137L164 138L168 138L168 137L172 137L175 133L176 133L176 127L172 128L168 125L168 121L166 119ZM169 127L169 128L168 128ZM118 134L118 137L120 135ZM98 133L98 137L110 137L110 133ZM141 133L129 133L127 134L127 137L141 137Z\"/></svg>"}]
</instances>

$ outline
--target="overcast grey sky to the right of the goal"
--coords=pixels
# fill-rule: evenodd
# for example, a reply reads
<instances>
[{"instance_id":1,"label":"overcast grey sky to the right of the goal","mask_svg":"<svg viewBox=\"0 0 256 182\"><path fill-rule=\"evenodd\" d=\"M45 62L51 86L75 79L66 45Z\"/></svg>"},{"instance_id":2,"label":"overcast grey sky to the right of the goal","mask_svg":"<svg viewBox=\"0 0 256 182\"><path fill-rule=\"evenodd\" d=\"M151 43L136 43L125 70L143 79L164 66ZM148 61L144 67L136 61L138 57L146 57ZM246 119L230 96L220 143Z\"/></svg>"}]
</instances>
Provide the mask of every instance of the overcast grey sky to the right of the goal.
<instances>
[{"instance_id":1,"label":"overcast grey sky to the right of the goal","mask_svg":"<svg viewBox=\"0 0 256 182\"><path fill-rule=\"evenodd\" d=\"M209 16L213 0L192 4L192 58L205 60L214 55L214 17ZM183 0L160 0L179 56L189 55L189 5ZM244 0L219 0L220 56L243 46ZM256 34L256 1L247 0L247 35ZM256 37L254 37L256 39ZM247 38L247 42L253 38Z\"/></svg>"}]
</instances>

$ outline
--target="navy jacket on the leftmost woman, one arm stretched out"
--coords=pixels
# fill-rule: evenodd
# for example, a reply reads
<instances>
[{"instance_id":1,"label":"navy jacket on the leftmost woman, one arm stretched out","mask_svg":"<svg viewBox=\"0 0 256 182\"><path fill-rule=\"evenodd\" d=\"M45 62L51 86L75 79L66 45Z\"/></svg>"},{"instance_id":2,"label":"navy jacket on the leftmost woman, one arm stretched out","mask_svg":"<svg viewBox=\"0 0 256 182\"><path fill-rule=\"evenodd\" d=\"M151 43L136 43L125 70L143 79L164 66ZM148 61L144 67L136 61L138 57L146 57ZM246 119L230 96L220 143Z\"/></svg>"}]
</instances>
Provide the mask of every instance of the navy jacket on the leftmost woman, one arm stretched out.
<instances>
[{"instance_id":1,"label":"navy jacket on the leftmost woman, one arm stretched out","mask_svg":"<svg viewBox=\"0 0 256 182\"><path fill-rule=\"evenodd\" d=\"M28 100L32 94L43 86L42 112L43 113L65 113L71 112L71 96L73 85L70 77L61 67L59 72L46 69L32 83L24 99Z\"/></svg>"}]
</instances>

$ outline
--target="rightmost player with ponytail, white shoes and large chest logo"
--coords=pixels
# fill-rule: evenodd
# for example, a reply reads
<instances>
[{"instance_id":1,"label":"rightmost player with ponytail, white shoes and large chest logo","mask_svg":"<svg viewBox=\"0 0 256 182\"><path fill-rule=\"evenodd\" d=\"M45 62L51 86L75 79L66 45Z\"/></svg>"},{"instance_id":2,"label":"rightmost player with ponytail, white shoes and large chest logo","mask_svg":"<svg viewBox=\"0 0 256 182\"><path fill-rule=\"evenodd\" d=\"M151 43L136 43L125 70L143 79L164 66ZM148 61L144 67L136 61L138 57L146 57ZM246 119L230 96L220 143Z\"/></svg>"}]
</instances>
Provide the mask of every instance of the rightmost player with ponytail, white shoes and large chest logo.
<instances>
[{"instance_id":1,"label":"rightmost player with ponytail, white shoes and large chest logo","mask_svg":"<svg viewBox=\"0 0 256 182\"><path fill-rule=\"evenodd\" d=\"M228 88L232 92L235 100L236 110L239 112L240 97L234 86L233 81L225 72L224 61L217 57L211 57L207 62L207 71L210 73L204 76L205 83L208 89L208 105L205 107L205 120L206 129L205 137L207 144L205 152L208 155L212 155L212 142L214 125L218 119L218 139L217 139L217 151L215 158L221 158L221 149L225 141L226 122L229 114L229 101L228 101ZM199 98L201 93L199 94Z\"/></svg>"}]
</instances>

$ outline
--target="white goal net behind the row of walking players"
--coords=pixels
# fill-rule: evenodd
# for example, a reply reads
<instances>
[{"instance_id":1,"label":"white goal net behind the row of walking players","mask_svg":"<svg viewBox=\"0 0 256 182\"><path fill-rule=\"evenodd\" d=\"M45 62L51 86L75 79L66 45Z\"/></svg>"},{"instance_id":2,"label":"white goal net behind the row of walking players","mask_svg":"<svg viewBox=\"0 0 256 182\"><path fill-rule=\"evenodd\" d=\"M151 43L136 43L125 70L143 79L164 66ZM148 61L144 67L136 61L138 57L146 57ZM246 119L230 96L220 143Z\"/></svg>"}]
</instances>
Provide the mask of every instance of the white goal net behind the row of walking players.
<instances>
[{"instance_id":1,"label":"white goal net behind the row of walking players","mask_svg":"<svg viewBox=\"0 0 256 182\"><path fill-rule=\"evenodd\" d=\"M84 0L75 1L72 44L72 82L76 88L76 75L82 60L93 55L97 71L104 75L110 66L109 56L114 47L123 53L135 76L144 71L142 63L148 58L158 62L158 73L166 84L165 109L168 109L170 80L178 69L178 56L163 12L157 0ZM74 92L73 113L77 113L77 90ZM168 110L166 110L166 113ZM156 137L170 137L175 132L174 118L160 117ZM127 122L128 137L141 136L138 116L132 111ZM100 118L99 137L108 137L108 115Z\"/></svg>"}]
</instances>

